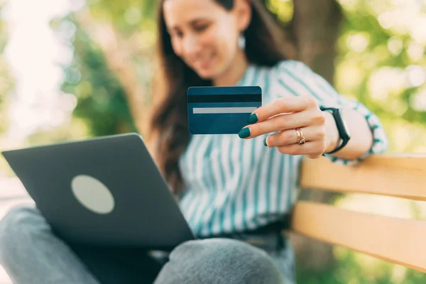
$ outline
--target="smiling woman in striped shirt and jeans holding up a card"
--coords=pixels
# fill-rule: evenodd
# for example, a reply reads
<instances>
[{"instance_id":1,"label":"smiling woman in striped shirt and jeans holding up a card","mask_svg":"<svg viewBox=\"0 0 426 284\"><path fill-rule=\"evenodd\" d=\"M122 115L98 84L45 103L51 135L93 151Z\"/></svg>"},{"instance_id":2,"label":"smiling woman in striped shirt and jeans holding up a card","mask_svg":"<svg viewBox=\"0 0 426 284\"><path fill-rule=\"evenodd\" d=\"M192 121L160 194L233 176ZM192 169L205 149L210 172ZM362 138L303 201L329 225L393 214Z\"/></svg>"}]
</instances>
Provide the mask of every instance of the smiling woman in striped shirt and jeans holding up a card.
<instances>
[{"instance_id":1,"label":"smiling woman in striped shirt and jeans holding up a card","mask_svg":"<svg viewBox=\"0 0 426 284\"><path fill-rule=\"evenodd\" d=\"M354 163L386 150L378 118L286 60L278 25L258 0L163 0L160 88L151 151L200 238L158 253L66 244L37 209L1 221L0 259L15 283L295 283L280 232L303 156ZM190 136L191 86L258 85L263 105L239 135ZM329 110L342 111L349 142ZM339 151L336 151L339 149ZM167 255L167 254L166 254Z\"/></svg>"}]
</instances>

